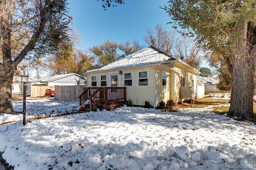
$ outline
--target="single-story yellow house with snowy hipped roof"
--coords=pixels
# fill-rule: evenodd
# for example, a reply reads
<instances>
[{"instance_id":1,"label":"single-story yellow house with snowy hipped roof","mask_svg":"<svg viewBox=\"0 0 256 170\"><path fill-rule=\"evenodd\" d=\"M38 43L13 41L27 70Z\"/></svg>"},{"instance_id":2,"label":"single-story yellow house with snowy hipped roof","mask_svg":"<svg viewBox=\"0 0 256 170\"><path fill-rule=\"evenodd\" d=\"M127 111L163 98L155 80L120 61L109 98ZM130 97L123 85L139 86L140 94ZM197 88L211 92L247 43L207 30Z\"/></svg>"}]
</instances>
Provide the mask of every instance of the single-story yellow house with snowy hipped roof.
<instances>
[{"instance_id":1,"label":"single-story yellow house with snowy hipped roof","mask_svg":"<svg viewBox=\"0 0 256 170\"><path fill-rule=\"evenodd\" d=\"M196 92L198 71L150 46L85 74L87 87L126 87L126 99L132 105L144 106L148 101L155 108L162 100L185 100L180 97L183 87Z\"/></svg>"}]
</instances>

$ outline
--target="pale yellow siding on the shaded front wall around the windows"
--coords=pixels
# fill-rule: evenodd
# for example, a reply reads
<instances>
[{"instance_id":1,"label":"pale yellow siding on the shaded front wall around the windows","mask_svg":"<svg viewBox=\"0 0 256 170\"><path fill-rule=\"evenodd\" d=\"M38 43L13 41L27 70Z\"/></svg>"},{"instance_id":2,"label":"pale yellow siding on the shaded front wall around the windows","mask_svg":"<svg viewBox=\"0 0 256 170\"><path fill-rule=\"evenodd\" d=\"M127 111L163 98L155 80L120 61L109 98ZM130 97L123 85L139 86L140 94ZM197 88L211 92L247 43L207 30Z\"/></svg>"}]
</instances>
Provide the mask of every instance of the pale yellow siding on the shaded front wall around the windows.
<instances>
[{"instance_id":1,"label":"pale yellow siding on the shaded front wall around the windows","mask_svg":"<svg viewBox=\"0 0 256 170\"><path fill-rule=\"evenodd\" d=\"M139 70L148 70L149 71L149 86L148 87L141 87L138 86L138 71ZM91 76L95 75L97 77L97 87L100 87L100 75L106 75L107 79L107 87L110 87L110 74L117 73L122 71L123 74L119 75L119 87L124 87L124 74L126 72L132 73L133 79L133 86L126 88L126 99L131 100L133 105L145 105L145 101L148 101L151 106L154 106L154 89L155 89L155 73L153 66L148 67L139 67L139 68L132 68L132 69L120 69L115 71L108 71L108 72L96 72L87 74L88 80L88 87L91 87Z\"/></svg>"}]
</instances>

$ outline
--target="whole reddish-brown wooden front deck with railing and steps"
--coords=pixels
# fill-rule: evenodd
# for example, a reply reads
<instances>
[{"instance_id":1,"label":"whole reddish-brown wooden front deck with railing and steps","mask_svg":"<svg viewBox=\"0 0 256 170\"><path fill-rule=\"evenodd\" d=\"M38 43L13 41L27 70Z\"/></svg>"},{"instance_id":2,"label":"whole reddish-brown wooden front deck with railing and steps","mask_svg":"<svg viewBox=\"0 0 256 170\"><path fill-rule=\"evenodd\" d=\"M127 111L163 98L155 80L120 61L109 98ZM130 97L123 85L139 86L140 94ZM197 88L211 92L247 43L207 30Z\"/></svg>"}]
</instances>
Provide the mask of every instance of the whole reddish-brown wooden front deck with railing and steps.
<instances>
[{"instance_id":1,"label":"whole reddish-brown wooden front deck with railing and steps","mask_svg":"<svg viewBox=\"0 0 256 170\"><path fill-rule=\"evenodd\" d=\"M89 100L85 110L114 110L126 103L126 87L86 87L77 97L80 106Z\"/></svg>"}]
</instances>

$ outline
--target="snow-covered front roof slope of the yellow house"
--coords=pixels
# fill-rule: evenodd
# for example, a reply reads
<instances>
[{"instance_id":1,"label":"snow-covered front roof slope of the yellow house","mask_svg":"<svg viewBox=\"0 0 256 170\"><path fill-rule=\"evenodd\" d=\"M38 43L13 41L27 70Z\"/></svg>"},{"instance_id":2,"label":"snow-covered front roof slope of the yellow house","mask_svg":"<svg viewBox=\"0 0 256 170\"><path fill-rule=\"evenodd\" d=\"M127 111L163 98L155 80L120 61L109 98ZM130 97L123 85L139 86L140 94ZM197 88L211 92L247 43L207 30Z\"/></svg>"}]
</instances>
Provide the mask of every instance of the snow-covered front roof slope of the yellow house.
<instances>
[{"instance_id":1,"label":"snow-covered front roof slope of the yellow house","mask_svg":"<svg viewBox=\"0 0 256 170\"><path fill-rule=\"evenodd\" d=\"M134 66L155 64L158 62L164 62L168 60L178 60L178 59L168 54L165 54L164 52L160 51L159 49L153 46L150 46L138 52L135 52L127 57L124 57L123 59L112 62L104 67L101 67L100 69L89 70L86 73L119 69L124 67L134 67Z\"/></svg>"}]
</instances>

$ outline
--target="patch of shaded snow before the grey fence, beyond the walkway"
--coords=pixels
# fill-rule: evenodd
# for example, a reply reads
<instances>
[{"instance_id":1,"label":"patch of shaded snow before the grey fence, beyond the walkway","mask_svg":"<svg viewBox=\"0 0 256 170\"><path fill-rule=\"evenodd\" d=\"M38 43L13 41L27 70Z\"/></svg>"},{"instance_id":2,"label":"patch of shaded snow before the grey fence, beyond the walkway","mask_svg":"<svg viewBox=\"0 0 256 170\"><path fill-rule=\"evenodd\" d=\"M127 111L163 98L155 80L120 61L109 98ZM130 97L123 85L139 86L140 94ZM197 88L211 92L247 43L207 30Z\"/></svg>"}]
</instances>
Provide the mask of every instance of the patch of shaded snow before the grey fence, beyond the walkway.
<instances>
[{"instance_id":1,"label":"patch of shaded snow before the grey fence, beyond the walkway","mask_svg":"<svg viewBox=\"0 0 256 170\"><path fill-rule=\"evenodd\" d=\"M42 98L39 100L26 101L27 118L56 116L65 113L76 112L78 102L60 101L55 98ZM13 110L22 112L23 101L13 101ZM22 114L0 113L0 124L10 121L18 121L23 118Z\"/></svg>"}]
</instances>

